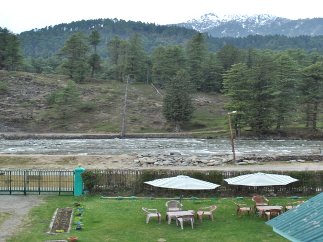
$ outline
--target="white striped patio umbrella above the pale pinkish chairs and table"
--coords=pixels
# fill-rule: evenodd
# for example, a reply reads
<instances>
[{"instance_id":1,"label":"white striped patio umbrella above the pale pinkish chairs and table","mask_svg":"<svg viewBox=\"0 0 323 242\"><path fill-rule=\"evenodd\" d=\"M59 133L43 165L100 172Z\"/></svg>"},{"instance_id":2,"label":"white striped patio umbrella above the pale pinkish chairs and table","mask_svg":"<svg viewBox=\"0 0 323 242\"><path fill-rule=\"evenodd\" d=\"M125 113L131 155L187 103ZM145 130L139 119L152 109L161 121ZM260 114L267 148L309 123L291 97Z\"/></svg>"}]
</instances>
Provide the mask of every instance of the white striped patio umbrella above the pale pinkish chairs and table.
<instances>
[{"instance_id":1,"label":"white striped patio umbrella above the pale pinkish chairs and table","mask_svg":"<svg viewBox=\"0 0 323 242\"><path fill-rule=\"evenodd\" d=\"M170 188L170 189L180 189L180 190L206 190L206 189L215 189L220 187L220 185L218 184L195 179L187 175L178 175L174 177L155 179L151 181L145 181L144 183L158 188ZM180 204L181 204L181 201L182 201L182 191L181 191L181 197L180 197Z\"/></svg>"}]
</instances>

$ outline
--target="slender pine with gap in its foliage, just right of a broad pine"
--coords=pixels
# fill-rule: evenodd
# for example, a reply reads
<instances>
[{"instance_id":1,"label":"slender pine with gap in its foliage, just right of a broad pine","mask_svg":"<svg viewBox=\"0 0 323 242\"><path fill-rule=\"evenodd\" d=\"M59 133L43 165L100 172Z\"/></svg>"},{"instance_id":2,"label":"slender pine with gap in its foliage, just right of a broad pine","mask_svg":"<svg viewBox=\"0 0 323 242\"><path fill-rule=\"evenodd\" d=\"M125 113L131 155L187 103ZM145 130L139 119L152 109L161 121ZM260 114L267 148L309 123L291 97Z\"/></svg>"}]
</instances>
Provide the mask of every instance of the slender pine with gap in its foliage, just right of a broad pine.
<instances>
[{"instance_id":1,"label":"slender pine with gap in its foliage, just right of a broad pine","mask_svg":"<svg viewBox=\"0 0 323 242\"><path fill-rule=\"evenodd\" d=\"M96 53L96 47L98 44L102 41L101 34L98 30L91 31L89 35L89 45L93 46L93 53L88 58L88 64L91 67L91 77L93 78L94 72L97 72L100 70L100 64L101 64L101 56Z\"/></svg>"}]
</instances>

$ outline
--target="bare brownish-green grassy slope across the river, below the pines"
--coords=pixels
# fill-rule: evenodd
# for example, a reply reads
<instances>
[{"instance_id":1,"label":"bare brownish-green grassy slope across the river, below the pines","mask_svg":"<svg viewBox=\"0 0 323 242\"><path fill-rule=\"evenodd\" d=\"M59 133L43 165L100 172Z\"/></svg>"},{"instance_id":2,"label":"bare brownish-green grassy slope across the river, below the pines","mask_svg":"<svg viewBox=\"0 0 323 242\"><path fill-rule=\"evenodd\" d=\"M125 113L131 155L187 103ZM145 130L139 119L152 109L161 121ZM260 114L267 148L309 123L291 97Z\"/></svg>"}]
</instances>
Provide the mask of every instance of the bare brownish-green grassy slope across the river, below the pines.
<instances>
[{"instance_id":1,"label":"bare brownish-green grassy slope across the river, below the pines","mask_svg":"<svg viewBox=\"0 0 323 242\"><path fill-rule=\"evenodd\" d=\"M52 112L45 98L65 86L67 76L31 74L0 71L0 84L6 84L10 92L0 91L0 132L17 133L119 133L121 132L125 83L87 79L78 85L84 102L95 102L97 109L90 112L75 110L67 122L62 122L59 113ZM159 90L164 94L164 90ZM33 118L27 117L27 109L20 107L19 99L36 100ZM195 118L182 125L184 132L211 132L227 130L221 134L195 134L196 137L229 137L229 127L224 104L229 100L218 93L195 92L192 94L196 106ZM127 101L127 133L166 133L173 130L161 114L163 99L148 84L136 83L129 87ZM298 119L295 113L295 119ZM248 128L243 136L254 136ZM268 138L281 138L268 133ZM322 138L322 134L311 134L309 127L294 123L284 129L288 138Z\"/></svg>"}]
</instances>

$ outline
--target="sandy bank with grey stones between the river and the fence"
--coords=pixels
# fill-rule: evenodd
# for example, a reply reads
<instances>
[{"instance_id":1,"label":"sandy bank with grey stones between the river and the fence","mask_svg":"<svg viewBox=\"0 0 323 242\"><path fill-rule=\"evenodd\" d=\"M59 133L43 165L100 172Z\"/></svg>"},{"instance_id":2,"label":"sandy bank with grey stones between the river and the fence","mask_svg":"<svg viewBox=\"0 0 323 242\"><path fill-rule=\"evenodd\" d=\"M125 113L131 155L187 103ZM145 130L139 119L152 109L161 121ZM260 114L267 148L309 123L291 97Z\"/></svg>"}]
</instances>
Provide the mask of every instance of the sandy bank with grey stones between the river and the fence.
<instances>
[{"instance_id":1,"label":"sandy bank with grey stones between the river and the fence","mask_svg":"<svg viewBox=\"0 0 323 242\"><path fill-rule=\"evenodd\" d=\"M322 170L322 154L236 156L218 153L183 155L177 152L164 154L132 155L0 155L0 170L13 169L66 169L74 170L78 163L86 169L171 169L171 170Z\"/></svg>"}]
</instances>

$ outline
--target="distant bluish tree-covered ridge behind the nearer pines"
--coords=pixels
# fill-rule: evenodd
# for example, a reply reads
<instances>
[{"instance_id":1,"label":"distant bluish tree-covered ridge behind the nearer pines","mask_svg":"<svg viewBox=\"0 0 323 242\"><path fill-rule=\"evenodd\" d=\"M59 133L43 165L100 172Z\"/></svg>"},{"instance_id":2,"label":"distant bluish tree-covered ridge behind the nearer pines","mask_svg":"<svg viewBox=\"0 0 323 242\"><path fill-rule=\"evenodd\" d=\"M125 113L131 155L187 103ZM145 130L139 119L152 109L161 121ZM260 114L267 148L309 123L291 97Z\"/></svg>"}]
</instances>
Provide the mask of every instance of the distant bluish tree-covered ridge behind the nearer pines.
<instances>
[{"instance_id":1,"label":"distant bluish tree-covered ridge behind the nearer pines","mask_svg":"<svg viewBox=\"0 0 323 242\"><path fill-rule=\"evenodd\" d=\"M72 23L64 23L55 26L46 26L40 29L25 31L17 36L21 40L21 47L25 57L49 58L55 56L64 46L64 42L77 32L88 35L92 30L98 30L103 41L98 45L97 53L107 57L105 44L115 35L127 40L130 35L139 33L142 35L144 49L151 52L151 47L168 44L185 44L188 39L197 34L193 29L184 27L155 25L154 23L142 23L118 19L94 19L82 20ZM287 37L284 35L249 35L247 37L207 37L208 49L216 52L225 44L234 44L239 48L248 46L259 49L285 50L288 48L301 48L306 52L319 52L323 54L323 36L298 36Z\"/></svg>"}]
</instances>

